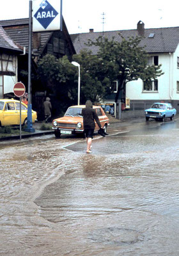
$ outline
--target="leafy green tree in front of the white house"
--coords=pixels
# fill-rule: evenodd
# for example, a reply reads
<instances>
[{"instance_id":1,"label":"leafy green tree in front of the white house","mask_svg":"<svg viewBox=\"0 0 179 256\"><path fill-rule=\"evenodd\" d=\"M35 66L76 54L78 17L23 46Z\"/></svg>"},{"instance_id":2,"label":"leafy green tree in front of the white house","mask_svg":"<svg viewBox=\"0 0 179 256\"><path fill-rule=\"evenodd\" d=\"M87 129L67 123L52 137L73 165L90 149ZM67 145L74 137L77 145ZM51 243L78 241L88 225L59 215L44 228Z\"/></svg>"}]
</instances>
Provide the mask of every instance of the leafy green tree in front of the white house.
<instances>
[{"instance_id":1,"label":"leafy green tree in front of the white house","mask_svg":"<svg viewBox=\"0 0 179 256\"><path fill-rule=\"evenodd\" d=\"M96 42L89 40L89 45L99 47L98 58L102 59L102 76L106 76L111 83L118 80L118 91L115 102L118 101L120 91L128 81L141 78L151 81L161 76L159 66L148 66L148 54L141 46L141 37L130 37L127 40L121 36L121 42L109 40L99 36Z\"/></svg>"}]
</instances>

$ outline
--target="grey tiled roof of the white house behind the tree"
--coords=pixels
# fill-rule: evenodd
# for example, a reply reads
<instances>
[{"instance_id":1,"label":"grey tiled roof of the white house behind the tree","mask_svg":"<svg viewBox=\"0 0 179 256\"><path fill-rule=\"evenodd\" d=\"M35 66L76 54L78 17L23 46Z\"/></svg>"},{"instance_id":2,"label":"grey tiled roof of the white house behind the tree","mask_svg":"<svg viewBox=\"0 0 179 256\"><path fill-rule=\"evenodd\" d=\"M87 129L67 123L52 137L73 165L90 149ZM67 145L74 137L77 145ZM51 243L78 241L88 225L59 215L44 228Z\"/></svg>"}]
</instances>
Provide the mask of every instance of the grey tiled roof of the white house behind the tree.
<instances>
[{"instance_id":1,"label":"grey tiled roof of the white house behind the tree","mask_svg":"<svg viewBox=\"0 0 179 256\"><path fill-rule=\"evenodd\" d=\"M149 35L153 33L154 36L152 38ZM114 40L117 42L121 42L122 38L129 38L132 36L137 36L137 29L129 29L129 30L117 30L117 31L104 31L102 32L89 32L89 33L79 33L70 35L72 38L72 42L75 47L75 51L77 54L82 49L87 49L91 51L93 54L97 54L98 47L94 45L92 47L86 45L88 40L95 40L98 36L105 36L109 40ZM148 53L159 53L159 52L175 52L176 47L179 43L179 27L171 27L171 28L150 28L144 29L144 37L141 40L140 45L144 46Z\"/></svg>"}]
</instances>

